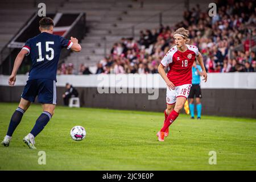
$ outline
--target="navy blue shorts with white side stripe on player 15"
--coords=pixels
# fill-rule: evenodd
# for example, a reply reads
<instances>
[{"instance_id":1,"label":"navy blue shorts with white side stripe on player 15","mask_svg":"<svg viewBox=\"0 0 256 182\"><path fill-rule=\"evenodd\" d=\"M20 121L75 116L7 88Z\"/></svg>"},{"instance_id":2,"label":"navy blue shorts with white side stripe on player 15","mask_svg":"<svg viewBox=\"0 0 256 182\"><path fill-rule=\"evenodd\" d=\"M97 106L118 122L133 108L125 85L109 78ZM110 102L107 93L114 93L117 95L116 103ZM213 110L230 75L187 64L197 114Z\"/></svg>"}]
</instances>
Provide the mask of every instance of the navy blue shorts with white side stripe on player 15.
<instances>
[{"instance_id":1,"label":"navy blue shorts with white side stripe on player 15","mask_svg":"<svg viewBox=\"0 0 256 182\"><path fill-rule=\"evenodd\" d=\"M35 102L38 96L38 102L41 104L56 105L56 82L45 78L28 80L24 87L22 98L24 100Z\"/></svg>"}]
</instances>

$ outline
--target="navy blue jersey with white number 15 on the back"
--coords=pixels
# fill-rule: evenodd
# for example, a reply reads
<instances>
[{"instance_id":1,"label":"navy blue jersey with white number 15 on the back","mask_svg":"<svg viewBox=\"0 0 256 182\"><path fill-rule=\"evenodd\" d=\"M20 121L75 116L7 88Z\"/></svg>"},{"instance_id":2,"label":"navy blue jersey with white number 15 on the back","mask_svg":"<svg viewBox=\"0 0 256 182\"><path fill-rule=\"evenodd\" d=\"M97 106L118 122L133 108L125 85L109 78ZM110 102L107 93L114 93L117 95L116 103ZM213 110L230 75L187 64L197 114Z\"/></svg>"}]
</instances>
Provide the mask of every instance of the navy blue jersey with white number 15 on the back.
<instances>
[{"instance_id":1,"label":"navy blue jersey with white number 15 on the back","mask_svg":"<svg viewBox=\"0 0 256 182\"><path fill-rule=\"evenodd\" d=\"M28 51L32 59L28 80L47 78L56 81L61 48L69 49L72 44L70 40L62 36L47 32L42 32L38 36L28 39L23 47Z\"/></svg>"}]
</instances>

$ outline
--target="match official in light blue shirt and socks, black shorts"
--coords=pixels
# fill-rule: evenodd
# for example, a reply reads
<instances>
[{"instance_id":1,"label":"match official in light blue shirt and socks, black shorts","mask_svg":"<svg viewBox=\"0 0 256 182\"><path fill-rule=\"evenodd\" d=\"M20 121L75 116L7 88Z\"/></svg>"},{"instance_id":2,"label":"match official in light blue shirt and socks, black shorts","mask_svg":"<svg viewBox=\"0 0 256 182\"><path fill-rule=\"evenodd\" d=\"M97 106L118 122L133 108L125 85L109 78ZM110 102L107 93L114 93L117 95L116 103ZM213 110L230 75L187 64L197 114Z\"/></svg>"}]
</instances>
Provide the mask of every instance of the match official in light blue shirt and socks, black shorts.
<instances>
[{"instance_id":1,"label":"match official in light blue shirt and socks, black shorts","mask_svg":"<svg viewBox=\"0 0 256 182\"><path fill-rule=\"evenodd\" d=\"M201 110L202 110L202 104L201 104L201 88L200 88L200 76L202 75L202 68L200 65L196 64L196 61L193 63L192 66L192 86L189 92L189 110L191 114L191 119L195 118L195 105L194 105L194 97L196 97L196 111L197 111L197 119L201 119Z\"/></svg>"}]
</instances>

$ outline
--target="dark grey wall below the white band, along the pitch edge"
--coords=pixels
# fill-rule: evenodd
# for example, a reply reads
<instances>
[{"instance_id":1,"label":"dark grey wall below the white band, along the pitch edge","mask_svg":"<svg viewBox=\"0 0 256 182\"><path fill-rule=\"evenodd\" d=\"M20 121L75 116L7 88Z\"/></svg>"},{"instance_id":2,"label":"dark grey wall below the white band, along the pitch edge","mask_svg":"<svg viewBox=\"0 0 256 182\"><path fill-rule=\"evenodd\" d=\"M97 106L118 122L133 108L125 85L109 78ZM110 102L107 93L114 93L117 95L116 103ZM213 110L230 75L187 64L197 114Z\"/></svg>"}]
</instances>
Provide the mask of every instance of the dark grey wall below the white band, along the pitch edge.
<instances>
[{"instance_id":1,"label":"dark grey wall below the white band, along the pitch edge","mask_svg":"<svg viewBox=\"0 0 256 182\"><path fill-rule=\"evenodd\" d=\"M109 109L164 111L166 89L159 89L157 100L148 100L148 94L100 94L97 88L77 87L82 107ZM19 102L23 86L0 86L0 102ZM65 88L57 87L57 105L63 105ZM256 118L255 89L202 89L202 113L229 117ZM183 111L184 112L184 111Z\"/></svg>"}]
</instances>

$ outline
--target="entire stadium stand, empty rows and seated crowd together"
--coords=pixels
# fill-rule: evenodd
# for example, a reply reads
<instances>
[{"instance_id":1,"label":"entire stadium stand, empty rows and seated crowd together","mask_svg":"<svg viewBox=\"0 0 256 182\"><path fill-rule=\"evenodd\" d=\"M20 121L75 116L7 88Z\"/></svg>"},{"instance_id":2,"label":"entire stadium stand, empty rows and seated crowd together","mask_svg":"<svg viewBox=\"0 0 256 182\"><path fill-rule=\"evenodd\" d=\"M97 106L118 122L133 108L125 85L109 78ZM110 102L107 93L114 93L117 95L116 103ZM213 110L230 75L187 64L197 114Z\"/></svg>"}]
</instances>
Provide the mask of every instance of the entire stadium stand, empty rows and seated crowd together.
<instances>
[{"instance_id":1,"label":"entire stadium stand, empty rows and seated crowd together","mask_svg":"<svg viewBox=\"0 0 256 182\"><path fill-rule=\"evenodd\" d=\"M192 44L198 46L203 53L208 72L252 72L256 69L255 9L253 9L255 5L250 3L253 1L235 3L234 9L231 9L229 5L222 6L222 1L222 3L218 3L218 6L222 6L218 9L218 16L213 19L205 18L211 1L203 0L193 2L177 0L46 0L40 2L46 3L47 12L86 13L88 32L82 39L83 49L79 54L71 53L70 56L67 56L64 59L65 63L58 70L58 74L156 73L156 65L167 51L167 46L173 45L171 39L164 37L162 40L156 38L156 35L159 34L159 31L167 31L168 33L164 33L166 34L164 36L172 36L175 27L180 26L191 30L191 38L195 41ZM0 27L0 50L2 52L20 27L35 13L38 3L35 0L22 2L3 0L0 2L0 6L3 7L0 10L3 17L0 20L2 25ZM189 11L184 11L186 6ZM237 13L241 14L240 18L235 15ZM180 23L176 24L176 22ZM190 26L192 23L195 25ZM228 31L225 31L227 23L229 26L236 23L237 27L234 26L231 30L229 28ZM160 24L163 26L160 27ZM212 32L209 32L210 29ZM250 36L245 34L249 29L251 30ZM150 40L151 42L148 44L147 40L145 43L143 39L151 37L151 35L145 35L150 32L154 35L155 40ZM213 42L207 34L213 34L213 36L210 35ZM221 34L226 34L227 38ZM221 41L214 39L221 39ZM124 42L135 47L127 52L127 48L123 48L122 45ZM216 42L218 43L216 44ZM214 46L212 46L213 43ZM229 48L225 49L227 46ZM251 51L243 50L244 47L247 49L249 46L252 47ZM161 50L156 47L161 47ZM121 49L125 50L122 52L123 54L116 53ZM134 52L137 57L140 56L138 63L127 59L127 56L132 57ZM148 54L152 55L148 56ZM217 55L217 58L214 55Z\"/></svg>"}]
</instances>

